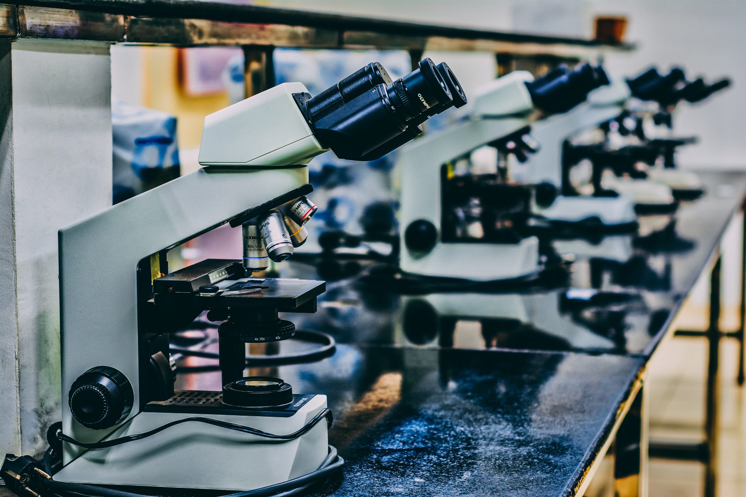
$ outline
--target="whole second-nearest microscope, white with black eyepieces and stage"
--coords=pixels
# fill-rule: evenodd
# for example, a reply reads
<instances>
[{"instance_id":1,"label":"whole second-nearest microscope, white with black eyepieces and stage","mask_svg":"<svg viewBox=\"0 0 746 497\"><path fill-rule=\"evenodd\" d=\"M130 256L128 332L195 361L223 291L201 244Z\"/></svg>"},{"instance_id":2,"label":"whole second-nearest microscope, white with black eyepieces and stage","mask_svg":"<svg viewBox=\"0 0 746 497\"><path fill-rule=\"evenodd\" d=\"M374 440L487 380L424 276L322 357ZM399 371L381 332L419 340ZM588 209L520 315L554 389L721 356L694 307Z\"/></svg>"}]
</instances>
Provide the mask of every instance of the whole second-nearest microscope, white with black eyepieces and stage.
<instances>
[{"instance_id":1,"label":"whole second-nearest microscope, white with black eyepieces and stage","mask_svg":"<svg viewBox=\"0 0 746 497\"><path fill-rule=\"evenodd\" d=\"M510 182L504 158L525 160L537 148L533 121L570 110L606 83L604 70L587 63L536 80L511 72L480 90L466 120L402 149L401 269L481 281L536 276L539 240L525 232L532 187ZM477 156L492 170L472 167Z\"/></svg>"}]
</instances>

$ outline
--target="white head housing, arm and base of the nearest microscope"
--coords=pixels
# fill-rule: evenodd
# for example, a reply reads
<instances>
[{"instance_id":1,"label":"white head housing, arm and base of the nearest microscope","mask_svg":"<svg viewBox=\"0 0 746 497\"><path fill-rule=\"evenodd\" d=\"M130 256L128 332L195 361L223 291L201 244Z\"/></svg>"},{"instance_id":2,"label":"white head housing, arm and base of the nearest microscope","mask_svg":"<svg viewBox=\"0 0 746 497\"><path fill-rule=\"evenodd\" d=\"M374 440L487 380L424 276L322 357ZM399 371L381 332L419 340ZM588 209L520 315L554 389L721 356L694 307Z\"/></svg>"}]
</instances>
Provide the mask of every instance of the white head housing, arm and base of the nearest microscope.
<instances>
[{"instance_id":1,"label":"white head housing, arm and base of the nearest microscope","mask_svg":"<svg viewBox=\"0 0 746 497\"><path fill-rule=\"evenodd\" d=\"M172 180L60 229L63 395L68 397L78 376L102 364L122 373L134 390L131 411L109 428L87 428L65 406L64 434L95 443L195 415L151 411L141 398L136 268L152 254L307 185L306 166L287 167L325 151L293 101L292 93L305 91L301 83L283 83L209 115L199 159L202 165L216 167ZM263 120L255 112L277 121L257 126ZM278 129L286 131L282 139ZM206 207L209 199L216 201ZM326 407L326 396L316 395L292 417L254 416L251 411L210 417L291 433ZM106 449L64 443L64 467L54 478L85 484L240 490L312 472L326 455L325 423L289 443L263 443L259 437L185 422L152 439Z\"/></svg>"}]
</instances>

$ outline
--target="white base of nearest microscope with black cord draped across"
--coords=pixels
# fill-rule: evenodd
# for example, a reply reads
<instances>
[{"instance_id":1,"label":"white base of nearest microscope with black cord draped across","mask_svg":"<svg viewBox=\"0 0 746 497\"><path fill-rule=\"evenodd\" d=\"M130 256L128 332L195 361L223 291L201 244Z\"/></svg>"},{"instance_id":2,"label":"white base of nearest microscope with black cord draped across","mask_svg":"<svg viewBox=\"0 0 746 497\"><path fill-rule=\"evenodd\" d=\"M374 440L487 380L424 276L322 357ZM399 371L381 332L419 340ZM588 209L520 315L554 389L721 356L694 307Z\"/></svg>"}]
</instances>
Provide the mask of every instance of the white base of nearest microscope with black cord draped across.
<instances>
[{"instance_id":1,"label":"white base of nearest microscope with black cord draped across","mask_svg":"<svg viewBox=\"0 0 746 497\"><path fill-rule=\"evenodd\" d=\"M210 417L274 434L302 428L322 409L316 395L290 417L272 415L140 412L113 431L119 438L186 417ZM151 437L108 449L90 449L54 479L83 484L253 490L313 472L327 456L327 422L295 440L269 440L201 422L184 422Z\"/></svg>"}]
</instances>

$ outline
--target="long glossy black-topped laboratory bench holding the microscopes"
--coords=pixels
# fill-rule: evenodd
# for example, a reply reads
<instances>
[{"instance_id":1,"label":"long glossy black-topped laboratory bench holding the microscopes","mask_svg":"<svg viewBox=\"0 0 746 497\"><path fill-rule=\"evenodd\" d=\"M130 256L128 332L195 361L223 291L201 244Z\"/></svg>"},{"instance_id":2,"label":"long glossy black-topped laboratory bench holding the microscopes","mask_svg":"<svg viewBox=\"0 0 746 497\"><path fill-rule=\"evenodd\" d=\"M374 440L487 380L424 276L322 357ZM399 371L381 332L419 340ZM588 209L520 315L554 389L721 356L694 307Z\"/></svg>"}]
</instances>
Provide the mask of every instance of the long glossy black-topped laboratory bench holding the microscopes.
<instances>
[{"instance_id":1,"label":"long glossy black-topped laboratory bench holding the microscopes","mask_svg":"<svg viewBox=\"0 0 746 497\"><path fill-rule=\"evenodd\" d=\"M634 235L552 241L568 272L545 287L402 291L366 282L380 262L328 281L315 314L288 318L332 335L336 352L310 364L250 368L298 393L327 395L330 443L347 465L319 495L582 495L612 454L618 495L645 495L646 364L677 331L708 340L706 438L652 440L649 454L706 463L705 495L715 495L718 344L743 338L743 323L738 332L719 328L720 242L742 209L746 174L700 177L703 197L668 218L642 218ZM281 276L319 279L324 262L286 263ZM708 329L673 329L707 270ZM219 390L215 363L182 358L177 388Z\"/></svg>"}]
</instances>

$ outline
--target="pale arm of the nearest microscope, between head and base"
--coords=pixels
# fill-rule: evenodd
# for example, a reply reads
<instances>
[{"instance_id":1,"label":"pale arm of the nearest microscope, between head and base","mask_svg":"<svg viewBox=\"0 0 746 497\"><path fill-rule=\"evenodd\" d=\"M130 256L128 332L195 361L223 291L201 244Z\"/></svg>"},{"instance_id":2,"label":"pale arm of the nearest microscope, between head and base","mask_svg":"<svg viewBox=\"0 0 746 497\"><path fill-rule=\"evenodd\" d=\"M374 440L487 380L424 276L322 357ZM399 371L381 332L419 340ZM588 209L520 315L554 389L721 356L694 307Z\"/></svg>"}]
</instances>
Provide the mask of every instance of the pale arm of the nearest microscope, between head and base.
<instances>
[{"instance_id":1,"label":"pale arm of the nearest microscope, between head and base","mask_svg":"<svg viewBox=\"0 0 746 497\"><path fill-rule=\"evenodd\" d=\"M139 268L143 259L307 183L304 166L204 168L60 229L63 392L101 364L138 384L137 270L151 270ZM139 391L129 417L140 412ZM113 429L85 428L63 409L63 432L76 440L98 441ZM66 444L65 463L79 452Z\"/></svg>"}]
</instances>

